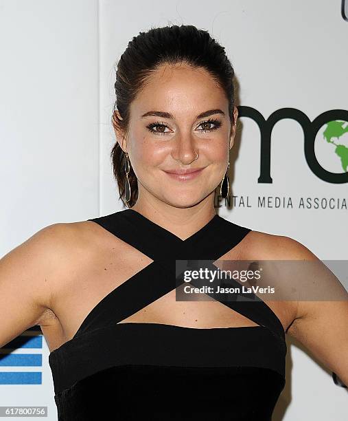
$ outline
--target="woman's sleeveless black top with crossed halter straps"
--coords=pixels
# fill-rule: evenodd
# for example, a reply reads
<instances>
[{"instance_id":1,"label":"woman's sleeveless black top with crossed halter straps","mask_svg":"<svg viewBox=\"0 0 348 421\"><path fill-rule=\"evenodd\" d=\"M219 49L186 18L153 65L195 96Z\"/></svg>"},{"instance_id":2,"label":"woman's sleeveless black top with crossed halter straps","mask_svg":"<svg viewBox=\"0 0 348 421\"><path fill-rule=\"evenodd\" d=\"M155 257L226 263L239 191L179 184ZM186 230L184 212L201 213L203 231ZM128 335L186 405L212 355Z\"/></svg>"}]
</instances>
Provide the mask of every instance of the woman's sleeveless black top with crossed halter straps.
<instances>
[{"instance_id":1,"label":"woman's sleeveless black top with crossed halter straps","mask_svg":"<svg viewBox=\"0 0 348 421\"><path fill-rule=\"evenodd\" d=\"M271 420L287 347L281 321L261 299L219 300L257 326L119 323L176 288L177 259L216 261L251 229L215 215L182 240L132 209L89 221L153 262L49 354L58 420Z\"/></svg>"}]
</instances>

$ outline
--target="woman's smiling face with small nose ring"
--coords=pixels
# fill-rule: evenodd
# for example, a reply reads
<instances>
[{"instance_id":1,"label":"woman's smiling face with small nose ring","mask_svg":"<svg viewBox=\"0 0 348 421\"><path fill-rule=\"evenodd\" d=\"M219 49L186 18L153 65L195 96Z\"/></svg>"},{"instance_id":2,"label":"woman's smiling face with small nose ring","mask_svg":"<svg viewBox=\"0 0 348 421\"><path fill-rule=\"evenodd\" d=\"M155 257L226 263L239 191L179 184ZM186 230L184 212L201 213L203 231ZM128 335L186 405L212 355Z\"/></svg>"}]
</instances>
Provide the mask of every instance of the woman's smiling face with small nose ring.
<instances>
[{"instance_id":1,"label":"woman's smiling face with small nose ring","mask_svg":"<svg viewBox=\"0 0 348 421\"><path fill-rule=\"evenodd\" d=\"M137 176L138 200L156 198L185 208L213 193L226 173L235 135L228 107L224 91L204 70L187 65L156 70L132 101L121 143ZM236 107L234 116L236 121ZM202 171L188 180L168 173L183 169Z\"/></svg>"}]
</instances>

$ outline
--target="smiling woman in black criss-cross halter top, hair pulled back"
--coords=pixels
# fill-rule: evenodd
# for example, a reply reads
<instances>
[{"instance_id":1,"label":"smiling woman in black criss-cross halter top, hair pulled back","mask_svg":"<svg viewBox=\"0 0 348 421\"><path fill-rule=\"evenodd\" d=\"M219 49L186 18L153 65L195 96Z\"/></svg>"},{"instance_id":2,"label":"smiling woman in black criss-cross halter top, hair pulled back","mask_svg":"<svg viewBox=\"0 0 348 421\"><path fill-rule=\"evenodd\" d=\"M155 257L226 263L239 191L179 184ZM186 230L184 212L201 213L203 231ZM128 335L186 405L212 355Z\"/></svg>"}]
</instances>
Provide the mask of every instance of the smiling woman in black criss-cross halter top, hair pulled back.
<instances>
[{"instance_id":1,"label":"smiling woman in black criss-cross halter top, hair pulled back","mask_svg":"<svg viewBox=\"0 0 348 421\"><path fill-rule=\"evenodd\" d=\"M194 26L133 38L113 114L128 208L47 226L2 259L0 343L41 326L59 420L270 420L285 332L348 382L347 300L176 300L183 259L318 261L294 239L216 215L236 131L233 74Z\"/></svg>"}]
</instances>

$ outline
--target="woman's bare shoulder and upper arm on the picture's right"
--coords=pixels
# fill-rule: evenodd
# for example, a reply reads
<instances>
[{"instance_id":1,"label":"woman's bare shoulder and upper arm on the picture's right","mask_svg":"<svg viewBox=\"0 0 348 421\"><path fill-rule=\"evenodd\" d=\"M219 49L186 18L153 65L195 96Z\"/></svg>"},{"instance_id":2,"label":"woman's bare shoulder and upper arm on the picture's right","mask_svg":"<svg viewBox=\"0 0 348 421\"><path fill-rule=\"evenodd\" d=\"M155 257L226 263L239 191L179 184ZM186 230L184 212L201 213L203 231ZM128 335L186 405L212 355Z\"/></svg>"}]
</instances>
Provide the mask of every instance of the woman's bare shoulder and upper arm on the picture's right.
<instances>
[{"instance_id":1,"label":"woman's bare shoulder and upper arm on the picture's right","mask_svg":"<svg viewBox=\"0 0 348 421\"><path fill-rule=\"evenodd\" d=\"M347 290L331 270L299 241L256 231L249 235L246 246L248 255L254 255L254 259L310 261L303 266L306 268L302 279L304 298L297 301L288 333L348 385Z\"/></svg>"}]
</instances>

